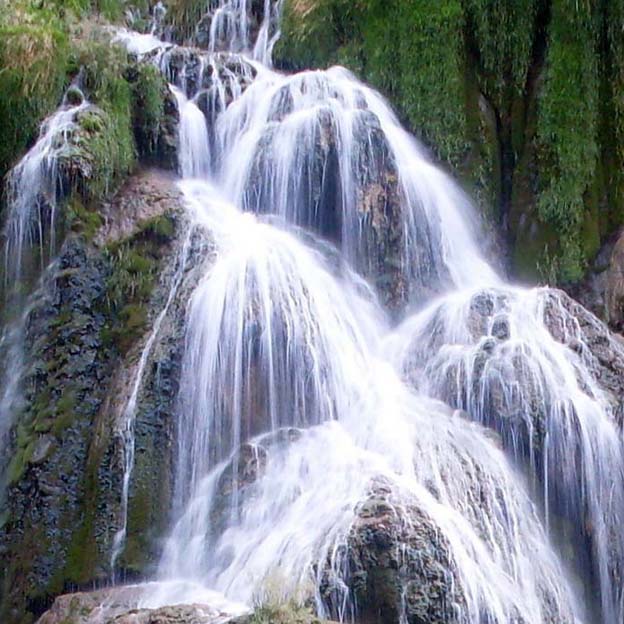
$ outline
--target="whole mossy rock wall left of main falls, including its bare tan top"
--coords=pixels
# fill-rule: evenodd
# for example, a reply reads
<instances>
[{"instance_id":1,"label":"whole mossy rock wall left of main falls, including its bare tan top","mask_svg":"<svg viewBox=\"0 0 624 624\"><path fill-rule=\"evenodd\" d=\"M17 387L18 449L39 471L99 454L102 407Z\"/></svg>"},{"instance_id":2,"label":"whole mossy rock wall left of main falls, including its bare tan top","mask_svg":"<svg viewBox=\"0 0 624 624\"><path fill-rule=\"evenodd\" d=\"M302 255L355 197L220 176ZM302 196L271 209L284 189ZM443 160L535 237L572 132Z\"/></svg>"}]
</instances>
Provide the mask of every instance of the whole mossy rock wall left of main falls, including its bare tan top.
<instances>
[{"instance_id":1,"label":"whole mossy rock wall left of main falls, including its bare tan top","mask_svg":"<svg viewBox=\"0 0 624 624\"><path fill-rule=\"evenodd\" d=\"M111 250L120 239L128 241L124 257L134 259L136 271L148 259L140 255L146 237L156 237L152 247L160 251L149 267L161 283L144 293L142 303L146 318L154 317L168 293L175 266L168 250L182 225L174 217L161 217L175 215L180 202L166 177L138 176L114 201L100 206L104 225L93 242L75 236L66 240L36 293L25 344L25 407L11 434L8 503L0 528L0 620L7 624L40 613L51 596L70 585L109 578L123 477L115 421L142 348L142 335L135 332L129 343L134 346L122 359L110 339L111 323L128 322L110 307L119 262ZM152 560L171 499L172 414L184 301L171 306L163 324L137 416L129 546L123 560L132 574Z\"/></svg>"}]
</instances>

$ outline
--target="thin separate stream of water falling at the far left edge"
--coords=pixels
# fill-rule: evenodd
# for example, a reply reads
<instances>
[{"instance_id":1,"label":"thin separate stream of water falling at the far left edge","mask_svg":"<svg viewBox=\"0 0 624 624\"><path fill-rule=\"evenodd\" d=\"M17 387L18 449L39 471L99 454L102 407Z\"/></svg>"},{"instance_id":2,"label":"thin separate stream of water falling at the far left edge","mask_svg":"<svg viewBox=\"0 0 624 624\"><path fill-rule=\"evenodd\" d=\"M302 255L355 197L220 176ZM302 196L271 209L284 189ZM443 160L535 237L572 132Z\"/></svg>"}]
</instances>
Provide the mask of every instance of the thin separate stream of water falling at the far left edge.
<instances>
[{"instance_id":1,"label":"thin separate stream of water falling at the far left edge","mask_svg":"<svg viewBox=\"0 0 624 624\"><path fill-rule=\"evenodd\" d=\"M78 114L89 106L76 84L71 87L71 95L69 98L66 94L59 109L43 121L35 144L6 176L0 288L3 303L0 361L7 364L0 371L0 453L3 455L10 446L11 428L23 400L20 383L26 370L26 329L41 289L40 284L27 299L28 289L20 282L43 271L54 257L58 203L67 190L62 188L58 158L67 147ZM6 468L4 462L1 468ZM0 470L2 479L6 476L4 472ZM0 498L3 497L1 482Z\"/></svg>"}]
</instances>

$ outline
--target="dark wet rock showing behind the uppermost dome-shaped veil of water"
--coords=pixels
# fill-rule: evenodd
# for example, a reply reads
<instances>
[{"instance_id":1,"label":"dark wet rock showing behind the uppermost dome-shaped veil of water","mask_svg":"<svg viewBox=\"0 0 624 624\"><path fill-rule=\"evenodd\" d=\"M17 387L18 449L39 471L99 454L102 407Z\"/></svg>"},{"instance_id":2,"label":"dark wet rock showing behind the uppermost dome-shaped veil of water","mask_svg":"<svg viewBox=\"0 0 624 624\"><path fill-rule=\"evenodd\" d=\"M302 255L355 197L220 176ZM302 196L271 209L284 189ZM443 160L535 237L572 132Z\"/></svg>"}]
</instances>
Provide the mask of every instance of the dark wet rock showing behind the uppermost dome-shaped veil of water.
<instances>
[{"instance_id":1,"label":"dark wet rock showing behind the uppermost dome-shaped veil of water","mask_svg":"<svg viewBox=\"0 0 624 624\"><path fill-rule=\"evenodd\" d=\"M246 208L267 214L277 210L331 240L377 287L384 304L400 308L408 295L403 203L379 120L368 110L357 111L355 149L345 162L343 137L330 109L320 110L311 124L298 129L296 143L288 143L292 106L289 90L282 90L271 107L274 123L267 126L248 173ZM286 177L280 169L285 155ZM280 194L284 191L286 197Z\"/></svg>"}]
</instances>

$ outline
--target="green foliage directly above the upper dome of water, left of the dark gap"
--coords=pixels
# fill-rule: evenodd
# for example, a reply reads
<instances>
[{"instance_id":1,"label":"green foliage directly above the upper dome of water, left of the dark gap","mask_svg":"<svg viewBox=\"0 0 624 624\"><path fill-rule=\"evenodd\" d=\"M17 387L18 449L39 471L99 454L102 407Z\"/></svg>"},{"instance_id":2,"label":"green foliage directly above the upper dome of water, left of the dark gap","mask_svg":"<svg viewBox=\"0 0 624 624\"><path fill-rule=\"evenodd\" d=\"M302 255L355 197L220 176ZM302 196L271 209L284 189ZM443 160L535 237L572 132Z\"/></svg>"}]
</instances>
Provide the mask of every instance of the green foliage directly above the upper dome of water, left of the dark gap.
<instances>
[{"instance_id":1,"label":"green foliage directly above the upper dome of water, left of the dark gap","mask_svg":"<svg viewBox=\"0 0 624 624\"><path fill-rule=\"evenodd\" d=\"M291 0L278 61L341 63L389 95L438 156L469 148L459 0Z\"/></svg>"}]
</instances>

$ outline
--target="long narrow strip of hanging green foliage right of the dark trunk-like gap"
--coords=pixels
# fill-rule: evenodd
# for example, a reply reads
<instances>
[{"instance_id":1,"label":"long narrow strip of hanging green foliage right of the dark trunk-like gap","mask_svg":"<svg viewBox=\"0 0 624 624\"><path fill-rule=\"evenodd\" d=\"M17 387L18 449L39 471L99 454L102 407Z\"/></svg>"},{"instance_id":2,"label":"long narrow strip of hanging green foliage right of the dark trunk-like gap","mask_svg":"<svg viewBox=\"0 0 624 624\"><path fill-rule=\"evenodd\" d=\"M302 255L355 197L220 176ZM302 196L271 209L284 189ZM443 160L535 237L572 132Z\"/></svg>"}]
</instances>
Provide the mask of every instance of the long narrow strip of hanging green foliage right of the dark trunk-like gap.
<instances>
[{"instance_id":1,"label":"long narrow strip of hanging green foliage right of the dark trunk-like gap","mask_svg":"<svg viewBox=\"0 0 624 624\"><path fill-rule=\"evenodd\" d=\"M539 101L541 219L561 236L563 281L582 277L584 196L599 146L597 19L588 5L555 0L549 30L547 73Z\"/></svg>"}]
</instances>

